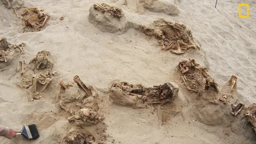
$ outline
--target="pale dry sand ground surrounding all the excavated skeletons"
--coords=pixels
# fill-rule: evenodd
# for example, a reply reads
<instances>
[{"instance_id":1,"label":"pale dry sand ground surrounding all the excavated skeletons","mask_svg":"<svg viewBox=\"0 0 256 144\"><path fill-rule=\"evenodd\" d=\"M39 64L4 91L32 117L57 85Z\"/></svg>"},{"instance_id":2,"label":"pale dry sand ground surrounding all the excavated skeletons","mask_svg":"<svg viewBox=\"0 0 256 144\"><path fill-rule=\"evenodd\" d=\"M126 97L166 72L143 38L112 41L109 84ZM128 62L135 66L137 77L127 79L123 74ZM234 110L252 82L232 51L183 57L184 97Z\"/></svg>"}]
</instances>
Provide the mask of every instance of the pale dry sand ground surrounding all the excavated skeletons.
<instances>
[{"instance_id":1,"label":"pale dry sand ground surrounding all the excavated skeletons","mask_svg":"<svg viewBox=\"0 0 256 144\"><path fill-rule=\"evenodd\" d=\"M215 0L97 1L122 9L121 20L112 21L97 21L105 17L91 7L94 2L26 0L24 6L43 8L51 17L41 31L26 29L24 33L21 18L0 4L0 37L10 44L26 44L24 54L16 49L8 62L0 63L0 124L20 129L34 123L40 132L38 140L18 136L12 140L0 138L1 144L256 143L243 112L237 116L230 113L234 99L247 107L256 102L255 1L220 1L217 8ZM249 18L238 18L239 3L249 4ZM198 47L184 54L161 50L154 36L139 31L142 24L158 18L186 24ZM40 50L50 52L48 58L54 65L50 70L55 75L48 88L29 101L33 99L33 86L20 88L22 76L17 73L17 64L24 60L25 72L31 75L28 63ZM218 94L212 89L202 94L187 90L177 70L179 61L187 57L208 68L219 85ZM35 74L45 71L36 69ZM232 74L238 76L234 90L228 83ZM87 96L92 99L84 98L86 92L74 82L75 75L86 84ZM66 85L73 83L64 90L58 84L60 79ZM173 82L179 92L171 104L132 108L132 104L142 103L120 104L126 101L118 101L118 91L110 92L115 81L146 87ZM38 90L43 87L39 84ZM228 97L227 105L214 99L223 93L233 98ZM91 109L79 111L81 102ZM88 120L89 113L93 120ZM84 117L88 119L83 121ZM67 136L73 135L84 141L68 143Z\"/></svg>"}]
</instances>

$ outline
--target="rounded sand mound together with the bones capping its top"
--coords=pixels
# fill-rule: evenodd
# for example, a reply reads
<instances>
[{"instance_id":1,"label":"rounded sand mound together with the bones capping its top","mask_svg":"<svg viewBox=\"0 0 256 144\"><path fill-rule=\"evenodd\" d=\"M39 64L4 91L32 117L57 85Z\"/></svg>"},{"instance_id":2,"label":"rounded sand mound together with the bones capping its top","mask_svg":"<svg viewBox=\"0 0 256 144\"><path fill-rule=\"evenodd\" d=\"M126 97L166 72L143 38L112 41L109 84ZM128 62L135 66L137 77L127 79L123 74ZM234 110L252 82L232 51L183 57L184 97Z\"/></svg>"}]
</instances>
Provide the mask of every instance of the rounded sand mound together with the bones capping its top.
<instances>
[{"instance_id":1,"label":"rounded sand mound together with the bones capping its top","mask_svg":"<svg viewBox=\"0 0 256 144\"><path fill-rule=\"evenodd\" d=\"M123 34L128 30L122 9L107 4L95 3L90 7L88 20L102 32Z\"/></svg>"}]
</instances>

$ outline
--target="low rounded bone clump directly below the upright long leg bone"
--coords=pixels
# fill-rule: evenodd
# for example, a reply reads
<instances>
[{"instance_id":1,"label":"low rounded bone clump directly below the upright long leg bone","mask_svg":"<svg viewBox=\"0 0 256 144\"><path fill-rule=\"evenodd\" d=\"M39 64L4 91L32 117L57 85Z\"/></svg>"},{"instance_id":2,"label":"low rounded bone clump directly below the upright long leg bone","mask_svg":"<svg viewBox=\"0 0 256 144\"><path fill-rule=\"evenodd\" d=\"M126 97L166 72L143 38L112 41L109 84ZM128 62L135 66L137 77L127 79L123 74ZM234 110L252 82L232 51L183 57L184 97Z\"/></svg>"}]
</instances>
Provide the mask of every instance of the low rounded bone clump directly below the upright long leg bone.
<instances>
[{"instance_id":1,"label":"low rounded bone clump directly below the upright long leg bone","mask_svg":"<svg viewBox=\"0 0 256 144\"><path fill-rule=\"evenodd\" d=\"M78 110L74 116L68 118L69 122L77 125L88 126L101 122L104 118L99 116L97 112L89 108L82 108Z\"/></svg>"}]
</instances>

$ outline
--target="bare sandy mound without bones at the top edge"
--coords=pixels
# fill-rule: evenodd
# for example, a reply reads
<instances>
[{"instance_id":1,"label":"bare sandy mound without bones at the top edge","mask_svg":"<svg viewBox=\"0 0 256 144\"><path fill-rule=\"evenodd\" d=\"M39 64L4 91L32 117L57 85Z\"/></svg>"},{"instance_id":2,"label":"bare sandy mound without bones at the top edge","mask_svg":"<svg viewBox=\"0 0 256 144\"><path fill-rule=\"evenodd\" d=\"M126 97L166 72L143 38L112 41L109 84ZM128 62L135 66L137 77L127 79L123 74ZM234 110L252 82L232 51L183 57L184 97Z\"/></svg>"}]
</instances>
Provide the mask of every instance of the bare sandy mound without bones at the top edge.
<instances>
[{"instance_id":1,"label":"bare sandy mound without bones at the top edge","mask_svg":"<svg viewBox=\"0 0 256 144\"><path fill-rule=\"evenodd\" d=\"M175 4L163 0L145 0L143 7L150 12L160 12L170 16L179 14L178 7Z\"/></svg>"}]
</instances>

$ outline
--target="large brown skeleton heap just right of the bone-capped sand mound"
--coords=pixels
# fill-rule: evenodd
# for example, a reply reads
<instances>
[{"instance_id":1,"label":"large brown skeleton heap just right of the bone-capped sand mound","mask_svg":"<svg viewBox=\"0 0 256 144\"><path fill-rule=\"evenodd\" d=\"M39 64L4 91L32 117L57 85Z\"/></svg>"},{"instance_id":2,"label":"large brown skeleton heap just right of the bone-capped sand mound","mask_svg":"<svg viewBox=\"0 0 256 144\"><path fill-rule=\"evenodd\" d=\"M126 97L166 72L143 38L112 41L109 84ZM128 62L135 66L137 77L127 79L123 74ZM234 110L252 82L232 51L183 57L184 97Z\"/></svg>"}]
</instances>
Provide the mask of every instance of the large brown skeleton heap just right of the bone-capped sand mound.
<instances>
[{"instance_id":1,"label":"large brown skeleton heap just right of the bone-capped sand mound","mask_svg":"<svg viewBox=\"0 0 256 144\"><path fill-rule=\"evenodd\" d=\"M151 24L142 25L141 30L147 35L156 36L158 43L162 44L162 50L170 50L174 54L184 54L190 48L199 48L185 24L159 18Z\"/></svg>"}]
</instances>

